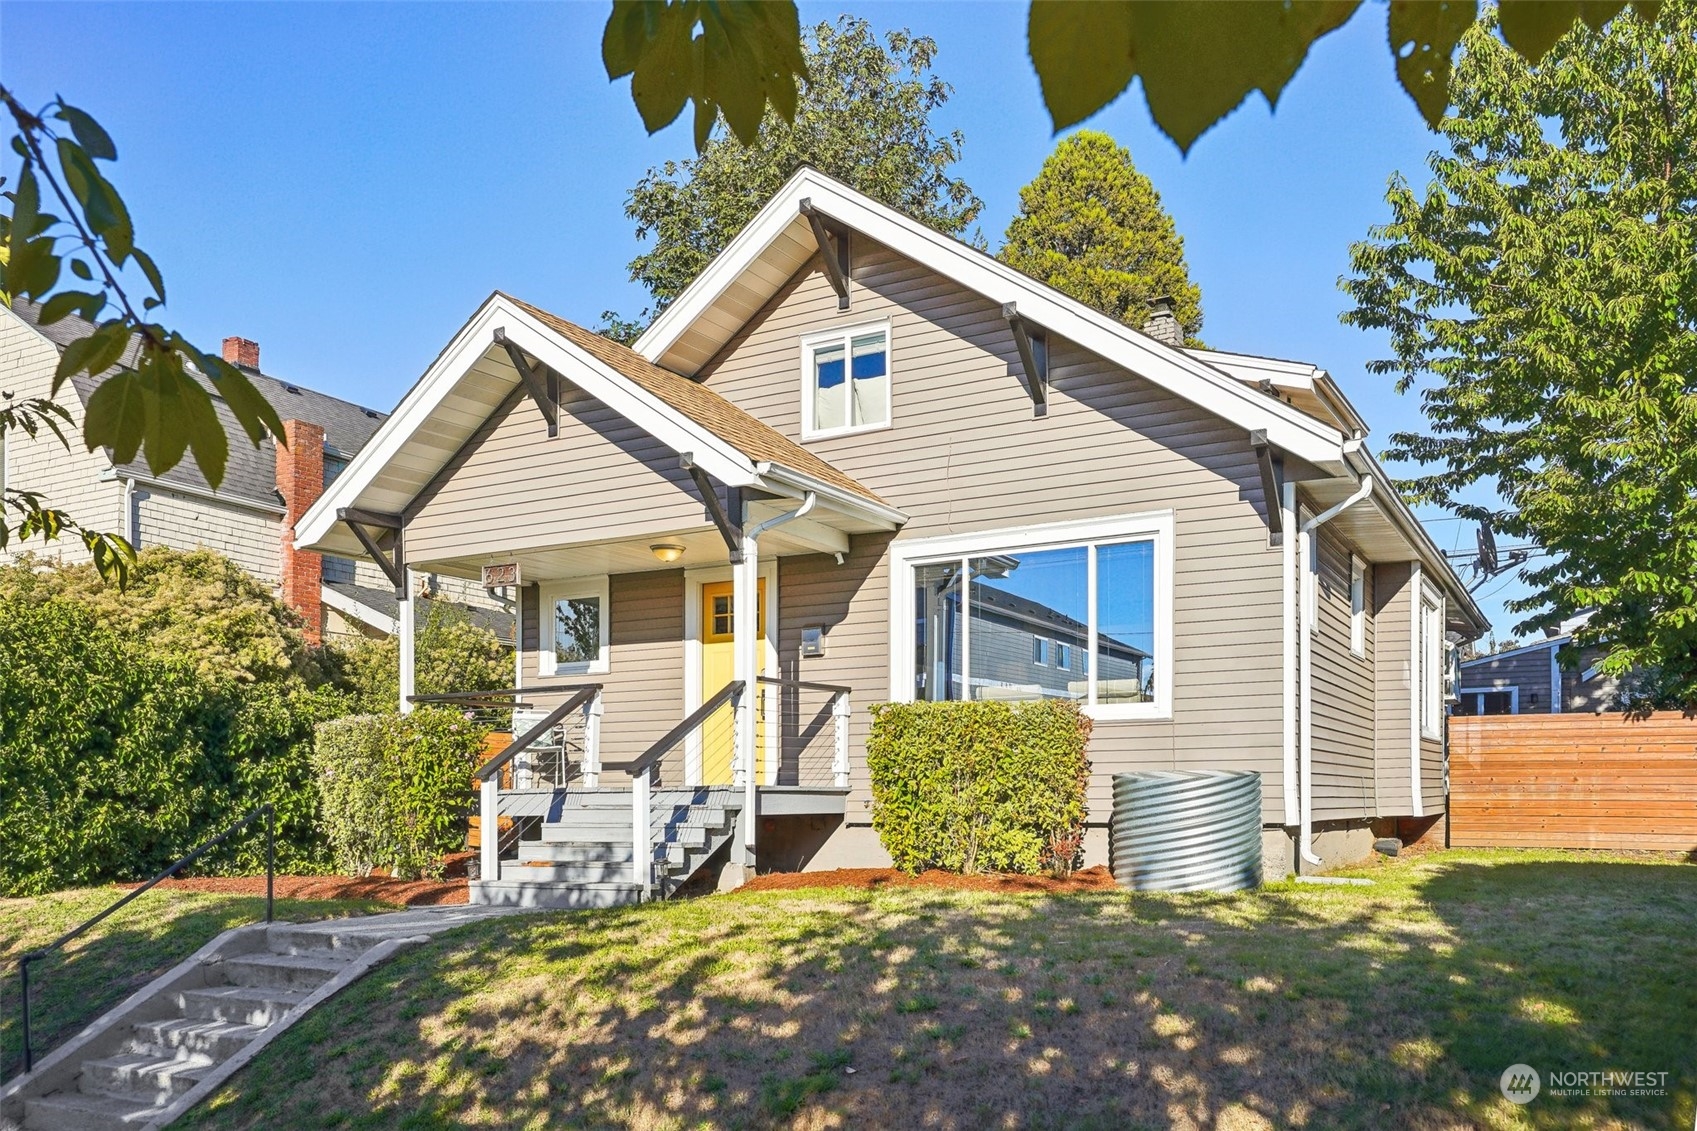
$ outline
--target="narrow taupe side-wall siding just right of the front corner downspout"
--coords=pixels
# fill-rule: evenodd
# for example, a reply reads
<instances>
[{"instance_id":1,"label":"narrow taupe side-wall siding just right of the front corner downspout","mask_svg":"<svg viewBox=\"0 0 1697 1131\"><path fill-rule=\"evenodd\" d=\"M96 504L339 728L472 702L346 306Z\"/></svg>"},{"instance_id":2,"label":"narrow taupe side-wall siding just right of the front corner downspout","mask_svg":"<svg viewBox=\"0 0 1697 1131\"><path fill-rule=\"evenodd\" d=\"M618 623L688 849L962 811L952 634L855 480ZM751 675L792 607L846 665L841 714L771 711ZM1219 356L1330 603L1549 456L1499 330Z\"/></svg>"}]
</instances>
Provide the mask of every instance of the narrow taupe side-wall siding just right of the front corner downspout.
<instances>
[{"instance_id":1,"label":"narrow taupe side-wall siding just right of the front corner downspout","mask_svg":"<svg viewBox=\"0 0 1697 1131\"><path fill-rule=\"evenodd\" d=\"M1315 627L1310 633L1315 820L1376 812L1375 618L1366 616L1366 656L1354 656L1349 647L1349 555L1351 549L1342 540L1325 526L1319 530ZM1368 574L1371 582L1371 569Z\"/></svg>"}]
</instances>

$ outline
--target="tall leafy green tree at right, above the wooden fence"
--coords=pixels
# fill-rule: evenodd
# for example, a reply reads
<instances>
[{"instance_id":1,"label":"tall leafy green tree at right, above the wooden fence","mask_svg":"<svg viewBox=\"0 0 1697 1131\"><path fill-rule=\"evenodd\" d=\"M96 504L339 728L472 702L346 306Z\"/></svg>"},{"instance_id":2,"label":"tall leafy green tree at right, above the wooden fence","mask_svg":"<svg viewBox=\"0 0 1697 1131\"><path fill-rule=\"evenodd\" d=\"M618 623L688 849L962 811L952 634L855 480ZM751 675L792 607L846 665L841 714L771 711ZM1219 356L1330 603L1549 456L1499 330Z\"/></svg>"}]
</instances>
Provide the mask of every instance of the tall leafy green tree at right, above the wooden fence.
<instances>
[{"instance_id":1,"label":"tall leafy green tree at right, above the wooden fence","mask_svg":"<svg viewBox=\"0 0 1697 1131\"><path fill-rule=\"evenodd\" d=\"M1543 66L1468 32L1432 183L1351 250L1344 321L1420 389L1414 498L1553 554L1510 603L1697 705L1697 15L1575 31ZM1492 489L1498 504L1480 503Z\"/></svg>"}]
</instances>

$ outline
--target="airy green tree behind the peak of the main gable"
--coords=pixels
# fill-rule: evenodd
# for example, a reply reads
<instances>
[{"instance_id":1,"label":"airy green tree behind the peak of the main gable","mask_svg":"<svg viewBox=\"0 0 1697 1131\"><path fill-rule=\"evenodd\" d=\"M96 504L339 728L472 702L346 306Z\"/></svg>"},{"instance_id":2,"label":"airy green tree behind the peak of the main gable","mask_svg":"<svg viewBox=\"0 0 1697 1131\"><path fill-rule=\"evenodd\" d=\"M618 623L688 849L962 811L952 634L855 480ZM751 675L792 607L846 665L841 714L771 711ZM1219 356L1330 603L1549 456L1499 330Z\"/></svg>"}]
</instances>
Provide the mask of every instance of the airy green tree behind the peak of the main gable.
<instances>
[{"instance_id":1,"label":"airy green tree behind the peak of the main gable","mask_svg":"<svg viewBox=\"0 0 1697 1131\"><path fill-rule=\"evenodd\" d=\"M932 73L933 41L893 31L879 42L865 20L843 17L808 29L804 56L806 82L792 121L769 112L750 144L714 132L701 156L650 168L631 188L624 214L653 246L630 270L653 295L652 314L701 273L798 165L813 165L949 234L966 231L983 209L952 173L961 132L932 126L950 95L949 83ZM628 338L640 333L640 323L624 319L614 329Z\"/></svg>"}]
</instances>

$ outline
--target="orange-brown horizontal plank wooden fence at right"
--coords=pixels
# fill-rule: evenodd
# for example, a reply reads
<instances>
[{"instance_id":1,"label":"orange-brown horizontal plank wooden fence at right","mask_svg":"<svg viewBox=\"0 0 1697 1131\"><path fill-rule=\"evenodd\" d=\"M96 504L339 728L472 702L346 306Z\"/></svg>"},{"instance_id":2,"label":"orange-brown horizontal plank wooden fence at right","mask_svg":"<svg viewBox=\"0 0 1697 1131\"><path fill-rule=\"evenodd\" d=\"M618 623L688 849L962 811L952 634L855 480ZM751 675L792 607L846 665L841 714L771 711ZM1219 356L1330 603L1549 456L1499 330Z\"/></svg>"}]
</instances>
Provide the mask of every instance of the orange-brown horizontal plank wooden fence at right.
<instances>
[{"instance_id":1,"label":"orange-brown horizontal plank wooden fence at right","mask_svg":"<svg viewBox=\"0 0 1697 1131\"><path fill-rule=\"evenodd\" d=\"M1697 720L1449 720L1449 842L1697 851Z\"/></svg>"}]
</instances>

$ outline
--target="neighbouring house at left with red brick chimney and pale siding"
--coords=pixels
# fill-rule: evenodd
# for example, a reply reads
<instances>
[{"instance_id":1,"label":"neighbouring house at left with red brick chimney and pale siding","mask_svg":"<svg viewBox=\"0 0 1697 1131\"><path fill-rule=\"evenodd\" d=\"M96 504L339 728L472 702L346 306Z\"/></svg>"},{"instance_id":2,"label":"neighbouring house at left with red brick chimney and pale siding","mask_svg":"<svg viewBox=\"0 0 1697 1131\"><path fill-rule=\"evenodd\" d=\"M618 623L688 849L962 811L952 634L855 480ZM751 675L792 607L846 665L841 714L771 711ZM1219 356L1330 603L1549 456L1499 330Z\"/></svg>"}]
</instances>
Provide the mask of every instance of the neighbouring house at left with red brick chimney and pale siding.
<instances>
[{"instance_id":1,"label":"neighbouring house at left with red brick chimney and pale siding","mask_svg":"<svg viewBox=\"0 0 1697 1131\"><path fill-rule=\"evenodd\" d=\"M93 329L76 316L51 326L39 319L41 307L34 302L0 307L0 391L48 396L59 353ZM246 443L234 416L214 397L224 431L236 438L216 491L192 459L154 475L143 459L117 464L109 448L88 452L75 436L66 448L46 433L36 438L0 433L0 487L36 491L85 526L119 533L136 549L217 550L275 582L314 640L392 633L394 593L370 562L321 557L297 550L292 540L294 520L365 447L384 414L260 372L260 346L246 338L226 338L224 360L248 374L277 409L288 447L278 448L270 438L260 447ZM56 399L71 411L76 428L95 385L98 380L78 375L59 389ZM88 557L75 538L34 538L0 552L0 562L24 552L70 562ZM511 610L480 586L428 574L419 584L424 596L460 605L511 642Z\"/></svg>"}]
</instances>

